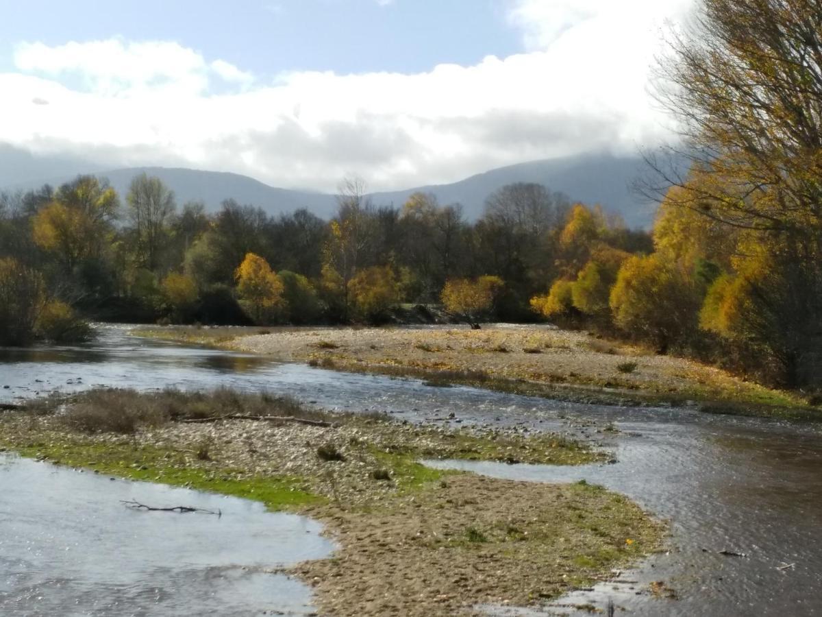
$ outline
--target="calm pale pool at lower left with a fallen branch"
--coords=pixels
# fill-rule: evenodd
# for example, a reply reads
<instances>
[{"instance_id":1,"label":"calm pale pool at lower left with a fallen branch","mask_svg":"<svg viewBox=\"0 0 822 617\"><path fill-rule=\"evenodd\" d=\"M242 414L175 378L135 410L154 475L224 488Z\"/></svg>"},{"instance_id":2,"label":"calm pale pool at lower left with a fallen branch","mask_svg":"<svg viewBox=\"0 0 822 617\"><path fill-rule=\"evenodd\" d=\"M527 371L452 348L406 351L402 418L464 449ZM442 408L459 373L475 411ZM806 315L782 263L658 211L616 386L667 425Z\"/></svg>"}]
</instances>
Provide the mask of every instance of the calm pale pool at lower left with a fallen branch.
<instances>
[{"instance_id":1,"label":"calm pale pool at lower left with a fallen branch","mask_svg":"<svg viewBox=\"0 0 822 617\"><path fill-rule=\"evenodd\" d=\"M318 523L260 503L9 456L0 521L0 615L305 615L310 591L269 571L333 550Z\"/></svg>"}]
</instances>

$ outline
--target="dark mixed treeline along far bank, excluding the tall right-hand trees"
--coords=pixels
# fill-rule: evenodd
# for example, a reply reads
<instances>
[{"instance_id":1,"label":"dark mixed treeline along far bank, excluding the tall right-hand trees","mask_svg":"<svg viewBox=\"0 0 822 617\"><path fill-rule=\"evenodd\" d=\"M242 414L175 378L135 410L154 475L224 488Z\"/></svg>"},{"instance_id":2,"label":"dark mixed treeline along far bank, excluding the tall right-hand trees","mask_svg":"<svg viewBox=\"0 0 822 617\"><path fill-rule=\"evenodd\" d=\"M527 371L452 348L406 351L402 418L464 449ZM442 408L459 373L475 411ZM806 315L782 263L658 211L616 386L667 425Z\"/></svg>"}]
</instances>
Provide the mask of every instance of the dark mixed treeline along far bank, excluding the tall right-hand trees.
<instances>
[{"instance_id":1,"label":"dark mixed treeline along far bank, excluding the tall right-hand trees","mask_svg":"<svg viewBox=\"0 0 822 617\"><path fill-rule=\"evenodd\" d=\"M538 184L501 188L474 223L431 194L373 204L356 179L338 200L330 221L230 199L210 215L199 203L178 207L145 174L122 199L81 176L0 197L0 257L90 318L300 324L381 322L397 304L441 299L470 321L533 319L529 299L590 253L581 226L619 254L651 248L643 231Z\"/></svg>"}]
</instances>

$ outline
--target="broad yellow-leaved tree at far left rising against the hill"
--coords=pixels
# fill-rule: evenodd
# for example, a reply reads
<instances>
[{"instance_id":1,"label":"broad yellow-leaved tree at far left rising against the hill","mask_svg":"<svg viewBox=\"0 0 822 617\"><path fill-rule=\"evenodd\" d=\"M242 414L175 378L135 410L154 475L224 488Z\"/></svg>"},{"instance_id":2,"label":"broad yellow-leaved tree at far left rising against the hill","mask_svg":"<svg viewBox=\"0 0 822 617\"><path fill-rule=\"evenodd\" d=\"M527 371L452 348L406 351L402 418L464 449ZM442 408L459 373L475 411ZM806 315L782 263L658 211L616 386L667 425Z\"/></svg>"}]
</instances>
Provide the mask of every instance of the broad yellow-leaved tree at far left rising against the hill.
<instances>
[{"instance_id":1,"label":"broad yellow-leaved tree at far left rising against the hill","mask_svg":"<svg viewBox=\"0 0 822 617\"><path fill-rule=\"evenodd\" d=\"M56 253L71 274L88 257L99 257L109 244L118 197L94 176L79 176L58 189L52 202L33 221L39 247Z\"/></svg>"}]
</instances>

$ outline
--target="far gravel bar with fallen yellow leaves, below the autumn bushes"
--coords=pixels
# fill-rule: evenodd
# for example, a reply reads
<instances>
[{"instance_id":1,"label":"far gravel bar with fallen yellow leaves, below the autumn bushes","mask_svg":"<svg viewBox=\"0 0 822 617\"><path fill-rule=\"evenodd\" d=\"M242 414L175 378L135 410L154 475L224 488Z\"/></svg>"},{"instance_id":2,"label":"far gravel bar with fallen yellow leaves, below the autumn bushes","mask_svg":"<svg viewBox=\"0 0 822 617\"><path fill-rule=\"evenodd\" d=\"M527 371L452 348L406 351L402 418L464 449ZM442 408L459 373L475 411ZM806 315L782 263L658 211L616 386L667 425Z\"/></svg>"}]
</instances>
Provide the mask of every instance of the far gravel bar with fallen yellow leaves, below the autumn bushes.
<instances>
[{"instance_id":1,"label":"far gravel bar with fallen yellow leaves, below the autumn bushes","mask_svg":"<svg viewBox=\"0 0 822 617\"><path fill-rule=\"evenodd\" d=\"M699 405L732 415L822 420L806 398L693 360L544 326L152 327L142 336L223 346L329 369L423 378L604 405Z\"/></svg>"}]
</instances>

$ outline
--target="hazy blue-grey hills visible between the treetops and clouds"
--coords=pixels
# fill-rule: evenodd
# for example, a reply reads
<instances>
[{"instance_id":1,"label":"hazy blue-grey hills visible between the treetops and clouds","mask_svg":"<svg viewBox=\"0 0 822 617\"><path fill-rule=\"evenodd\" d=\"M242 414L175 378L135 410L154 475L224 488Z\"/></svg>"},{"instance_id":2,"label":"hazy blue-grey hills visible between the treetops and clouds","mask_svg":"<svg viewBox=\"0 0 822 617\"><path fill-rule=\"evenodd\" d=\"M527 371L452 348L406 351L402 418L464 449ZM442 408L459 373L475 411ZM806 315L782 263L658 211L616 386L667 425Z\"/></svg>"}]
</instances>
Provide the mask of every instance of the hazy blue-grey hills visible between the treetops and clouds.
<instances>
[{"instance_id":1,"label":"hazy blue-grey hills visible between the treetops and clouds","mask_svg":"<svg viewBox=\"0 0 822 617\"><path fill-rule=\"evenodd\" d=\"M61 161L62 163L62 161ZM109 179L120 195L125 195L137 174L157 176L177 197L178 204L204 202L208 211L216 211L224 199L232 197L241 204L260 206L270 214L307 208L317 216L328 218L336 209L335 196L285 188L274 188L240 174L166 167L135 167L92 173ZM483 213L486 197L509 183L541 183L552 191L566 193L572 200L599 203L607 211L619 212L631 226L647 226L653 221L656 204L644 202L630 192L630 183L642 172L642 161L636 157L586 155L553 160L538 160L520 165L492 169L452 184L408 188L402 191L373 193L376 205L401 206L417 191L434 193L442 204L459 202L465 215L476 220ZM16 183L7 188L28 190L44 183L58 186L75 174ZM0 177L2 179L2 177Z\"/></svg>"}]
</instances>

